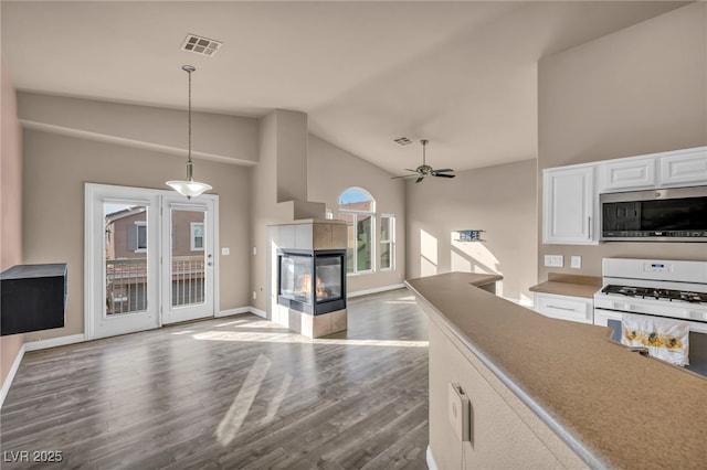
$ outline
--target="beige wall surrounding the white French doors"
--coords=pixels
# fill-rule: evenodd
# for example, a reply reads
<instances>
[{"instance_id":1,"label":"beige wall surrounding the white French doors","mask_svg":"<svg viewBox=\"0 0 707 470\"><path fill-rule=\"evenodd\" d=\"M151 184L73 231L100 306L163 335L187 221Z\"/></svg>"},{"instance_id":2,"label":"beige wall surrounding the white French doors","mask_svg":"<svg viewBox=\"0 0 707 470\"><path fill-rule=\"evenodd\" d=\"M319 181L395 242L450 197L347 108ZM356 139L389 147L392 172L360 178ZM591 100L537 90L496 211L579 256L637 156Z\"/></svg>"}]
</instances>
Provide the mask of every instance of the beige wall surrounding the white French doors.
<instances>
[{"instance_id":1,"label":"beige wall surrounding the white French doors","mask_svg":"<svg viewBox=\"0 0 707 470\"><path fill-rule=\"evenodd\" d=\"M196 162L198 178L219 194L220 310L247 307L249 170L213 161ZM182 178L181 158L160 152L42 131L24 132L23 229L25 263L67 263L66 325L25 335L27 341L84 331L84 183L168 189ZM219 255L220 256L220 255Z\"/></svg>"}]
</instances>

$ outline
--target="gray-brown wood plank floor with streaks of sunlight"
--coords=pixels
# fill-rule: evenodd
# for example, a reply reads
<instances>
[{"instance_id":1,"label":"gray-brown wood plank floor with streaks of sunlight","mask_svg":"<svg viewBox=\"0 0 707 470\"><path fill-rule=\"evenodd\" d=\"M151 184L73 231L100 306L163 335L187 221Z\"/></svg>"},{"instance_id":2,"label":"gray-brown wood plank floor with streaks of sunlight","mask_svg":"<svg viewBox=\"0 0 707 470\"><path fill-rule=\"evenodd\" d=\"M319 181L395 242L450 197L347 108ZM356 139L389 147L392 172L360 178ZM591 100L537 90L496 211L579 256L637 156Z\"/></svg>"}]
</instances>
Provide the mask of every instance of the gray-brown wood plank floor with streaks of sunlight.
<instances>
[{"instance_id":1,"label":"gray-brown wood plank floor with streaks of sunlight","mask_svg":"<svg viewBox=\"0 0 707 470\"><path fill-rule=\"evenodd\" d=\"M348 308L314 341L241 314L27 353L0 467L424 469L426 317L404 289Z\"/></svg>"}]
</instances>

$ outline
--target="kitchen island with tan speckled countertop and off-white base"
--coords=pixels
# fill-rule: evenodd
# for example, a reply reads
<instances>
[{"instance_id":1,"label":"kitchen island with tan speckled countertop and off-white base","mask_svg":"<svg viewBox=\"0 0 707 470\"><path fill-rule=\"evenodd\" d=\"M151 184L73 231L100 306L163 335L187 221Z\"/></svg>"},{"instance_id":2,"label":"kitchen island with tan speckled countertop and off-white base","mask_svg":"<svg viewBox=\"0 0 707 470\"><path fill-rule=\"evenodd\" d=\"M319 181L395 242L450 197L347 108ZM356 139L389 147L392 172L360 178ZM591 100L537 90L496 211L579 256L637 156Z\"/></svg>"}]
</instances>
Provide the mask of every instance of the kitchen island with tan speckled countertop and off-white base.
<instances>
[{"instance_id":1,"label":"kitchen island with tan speckled countertop and off-white base","mask_svg":"<svg viewBox=\"0 0 707 470\"><path fill-rule=\"evenodd\" d=\"M704 468L707 381L450 273L405 284L430 317L431 467ZM471 400L471 440L447 417Z\"/></svg>"}]
</instances>

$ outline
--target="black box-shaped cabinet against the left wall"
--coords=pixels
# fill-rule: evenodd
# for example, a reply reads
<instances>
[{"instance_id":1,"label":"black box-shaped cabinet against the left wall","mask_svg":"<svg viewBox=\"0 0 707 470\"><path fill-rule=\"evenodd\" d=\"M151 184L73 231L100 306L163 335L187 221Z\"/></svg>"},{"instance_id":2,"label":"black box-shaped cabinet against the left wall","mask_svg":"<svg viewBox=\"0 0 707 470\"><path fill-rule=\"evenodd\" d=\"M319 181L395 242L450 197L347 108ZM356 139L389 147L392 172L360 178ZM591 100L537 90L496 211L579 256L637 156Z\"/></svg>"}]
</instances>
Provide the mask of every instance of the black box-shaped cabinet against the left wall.
<instances>
[{"instance_id":1,"label":"black box-shaped cabinet against the left wall","mask_svg":"<svg viewBox=\"0 0 707 470\"><path fill-rule=\"evenodd\" d=\"M64 325L66 265L18 265L0 275L2 335Z\"/></svg>"}]
</instances>

